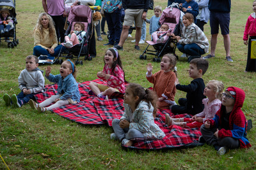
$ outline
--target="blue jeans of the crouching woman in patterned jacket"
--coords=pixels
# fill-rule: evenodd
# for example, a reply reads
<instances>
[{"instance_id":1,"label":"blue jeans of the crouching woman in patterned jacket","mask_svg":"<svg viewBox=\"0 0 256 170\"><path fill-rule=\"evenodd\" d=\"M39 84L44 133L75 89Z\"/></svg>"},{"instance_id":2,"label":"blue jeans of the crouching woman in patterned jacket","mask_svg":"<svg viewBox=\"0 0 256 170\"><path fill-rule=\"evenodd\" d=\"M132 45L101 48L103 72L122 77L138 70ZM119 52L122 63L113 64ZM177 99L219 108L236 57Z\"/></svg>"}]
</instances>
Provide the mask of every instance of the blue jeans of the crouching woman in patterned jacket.
<instances>
[{"instance_id":1,"label":"blue jeans of the crouching woman in patterned jacket","mask_svg":"<svg viewBox=\"0 0 256 170\"><path fill-rule=\"evenodd\" d=\"M180 43L177 43L177 48L180 50L180 52L192 56L200 56L205 53L204 49L200 48L200 46L198 46L196 43L191 43L188 45L181 45Z\"/></svg>"}]
</instances>

